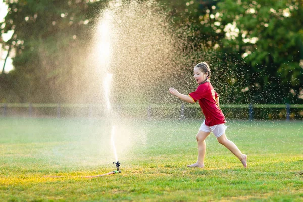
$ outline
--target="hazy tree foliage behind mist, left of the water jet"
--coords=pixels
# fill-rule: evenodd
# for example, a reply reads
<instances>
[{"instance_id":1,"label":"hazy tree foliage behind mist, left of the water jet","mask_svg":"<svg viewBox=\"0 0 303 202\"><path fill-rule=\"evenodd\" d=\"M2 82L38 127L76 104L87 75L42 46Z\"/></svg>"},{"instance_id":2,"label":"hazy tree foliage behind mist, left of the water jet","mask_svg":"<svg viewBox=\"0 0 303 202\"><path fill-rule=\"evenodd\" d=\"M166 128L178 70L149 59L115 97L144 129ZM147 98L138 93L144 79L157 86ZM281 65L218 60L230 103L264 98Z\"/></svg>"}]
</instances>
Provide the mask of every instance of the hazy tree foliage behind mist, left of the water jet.
<instances>
[{"instance_id":1,"label":"hazy tree foliage behind mist, left of the water jet","mask_svg":"<svg viewBox=\"0 0 303 202\"><path fill-rule=\"evenodd\" d=\"M89 94L89 82L79 81L89 80L85 57L91 28L107 1L5 3L9 12L0 26L2 33L14 30L14 35L2 43L16 52L15 70L10 73L15 80L10 83L19 102L71 102L79 94Z\"/></svg>"}]
</instances>

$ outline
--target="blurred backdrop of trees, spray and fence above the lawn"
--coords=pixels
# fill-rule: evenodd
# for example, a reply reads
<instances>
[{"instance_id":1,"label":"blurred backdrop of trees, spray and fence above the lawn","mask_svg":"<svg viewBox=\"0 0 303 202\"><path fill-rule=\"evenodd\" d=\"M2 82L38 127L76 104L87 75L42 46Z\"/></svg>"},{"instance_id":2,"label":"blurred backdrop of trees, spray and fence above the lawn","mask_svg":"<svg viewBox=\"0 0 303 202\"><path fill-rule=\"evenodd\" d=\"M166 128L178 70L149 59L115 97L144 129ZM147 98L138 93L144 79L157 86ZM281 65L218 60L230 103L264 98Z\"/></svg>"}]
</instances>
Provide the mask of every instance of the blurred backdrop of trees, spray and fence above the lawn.
<instances>
[{"instance_id":1,"label":"blurred backdrop of trees, spray and fence above the lawn","mask_svg":"<svg viewBox=\"0 0 303 202\"><path fill-rule=\"evenodd\" d=\"M302 119L302 4L0 1L0 113L101 116L110 72L121 114L196 118L168 88L194 91L193 67L207 61L227 117Z\"/></svg>"}]
</instances>

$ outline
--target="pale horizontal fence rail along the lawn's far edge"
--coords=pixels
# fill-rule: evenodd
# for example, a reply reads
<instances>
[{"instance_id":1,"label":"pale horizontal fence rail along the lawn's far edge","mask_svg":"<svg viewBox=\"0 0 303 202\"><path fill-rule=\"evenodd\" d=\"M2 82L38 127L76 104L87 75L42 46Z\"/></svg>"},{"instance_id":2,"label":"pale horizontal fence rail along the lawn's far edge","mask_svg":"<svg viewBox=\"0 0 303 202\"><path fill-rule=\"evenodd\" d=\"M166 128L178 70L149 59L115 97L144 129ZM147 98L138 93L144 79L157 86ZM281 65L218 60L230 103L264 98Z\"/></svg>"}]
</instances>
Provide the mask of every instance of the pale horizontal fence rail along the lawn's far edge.
<instances>
[{"instance_id":1,"label":"pale horizontal fence rail along the lawn's far edge","mask_svg":"<svg viewBox=\"0 0 303 202\"><path fill-rule=\"evenodd\" d=\"M89 117L93 116L95 109L99 111L105 110L105 106L102 104L56 104L56 103L0 103L0 109L2 109L3 117L8 116L9 109L13 108L23 108L23 114L28 116L34 116L34 109L37 108L48 108L52 109L52 116L61 117L61 113L65 109L82 109L86 112L86 115ZM186 110L191 108L199 108L199 105L190 105L190 104L129 104L129 105L113 105L114 109L138 109L141 114L145 114L147 118L153 117L153 111L169 110L169 109L179 109L179 118L185 119L187 117ZM248 119L254 119L254 109L266 109L266 108L275 108L275 109L284 109L285 119L290 120L291 109L299 109L300 114L303 117L303 105L299 104L221 104L220 108L229 108L229 109L244 109L248 110ZM302 110L301 110L302 109ZM17 113L18 114L18 113ZM188 113L187 113L188 114Z\"/></svg>"}]
</instances>

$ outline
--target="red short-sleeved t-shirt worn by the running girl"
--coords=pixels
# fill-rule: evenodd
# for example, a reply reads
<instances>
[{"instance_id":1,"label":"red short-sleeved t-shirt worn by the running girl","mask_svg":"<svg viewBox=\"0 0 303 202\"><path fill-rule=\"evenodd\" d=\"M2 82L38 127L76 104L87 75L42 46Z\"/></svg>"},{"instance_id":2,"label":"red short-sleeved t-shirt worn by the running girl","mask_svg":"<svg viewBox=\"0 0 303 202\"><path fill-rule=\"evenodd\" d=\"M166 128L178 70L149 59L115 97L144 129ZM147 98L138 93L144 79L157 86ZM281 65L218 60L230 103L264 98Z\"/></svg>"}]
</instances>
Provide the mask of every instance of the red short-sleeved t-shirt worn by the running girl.
<instances>
[{"instance_id":1,"label":"red short-sleeved t-shirt worn by the running girl","mask_svg":"<svg viewBox=\"0 0 303 202\"><path fill-rule=\"evenodd\" d=\"M199 100L200 107L205 116L205 125L214 126L226 123L224 114L216 102L218 94L210 82L200 84L196 91L189 93L189 97L194 102Z\"/></svg>"}]
</instances>

